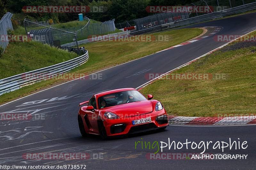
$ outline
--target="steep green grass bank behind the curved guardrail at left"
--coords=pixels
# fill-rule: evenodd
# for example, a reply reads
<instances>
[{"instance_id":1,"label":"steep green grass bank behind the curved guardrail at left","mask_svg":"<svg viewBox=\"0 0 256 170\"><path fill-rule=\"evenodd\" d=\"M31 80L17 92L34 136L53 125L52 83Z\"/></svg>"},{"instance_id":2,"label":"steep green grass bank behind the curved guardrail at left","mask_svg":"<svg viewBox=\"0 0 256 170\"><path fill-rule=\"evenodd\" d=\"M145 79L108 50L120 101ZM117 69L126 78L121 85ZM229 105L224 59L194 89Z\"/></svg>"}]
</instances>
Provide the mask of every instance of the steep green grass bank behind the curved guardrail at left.
<instances>
[{"instance_id":1,"label":"steep green grass bank behind the curved guardrail at left","mask_svg":"<svg viewBox=\"0 0 256 170\"><path fill-rule=\"evenodd\" d=\"M77 57L76 53L40 42L10 42L0 57L0 79L40 69Z\"/></svg>"}]
</instances>

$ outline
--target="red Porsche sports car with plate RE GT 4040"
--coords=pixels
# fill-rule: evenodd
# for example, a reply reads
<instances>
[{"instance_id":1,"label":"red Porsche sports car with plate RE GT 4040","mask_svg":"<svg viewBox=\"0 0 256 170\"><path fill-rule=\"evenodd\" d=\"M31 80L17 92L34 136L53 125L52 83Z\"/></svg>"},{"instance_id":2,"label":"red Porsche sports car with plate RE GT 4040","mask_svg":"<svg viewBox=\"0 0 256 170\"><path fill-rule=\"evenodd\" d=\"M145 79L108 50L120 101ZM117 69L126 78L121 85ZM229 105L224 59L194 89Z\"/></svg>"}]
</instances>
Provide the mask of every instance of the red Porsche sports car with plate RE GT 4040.
<instances>
[{"instance_id":1,"label":"red Porsche sports car with plate RE GT 4040","mask_svg":"<svg viewBox=\"0 0 256 170\"><path fill-rule=\"evenodd\" d=\"M100 92L79 104L78 125L83 137L87 134L110 136L165 129L168 116L160 101L146 99L134 88Z\"/></svg>"}]
</instances>

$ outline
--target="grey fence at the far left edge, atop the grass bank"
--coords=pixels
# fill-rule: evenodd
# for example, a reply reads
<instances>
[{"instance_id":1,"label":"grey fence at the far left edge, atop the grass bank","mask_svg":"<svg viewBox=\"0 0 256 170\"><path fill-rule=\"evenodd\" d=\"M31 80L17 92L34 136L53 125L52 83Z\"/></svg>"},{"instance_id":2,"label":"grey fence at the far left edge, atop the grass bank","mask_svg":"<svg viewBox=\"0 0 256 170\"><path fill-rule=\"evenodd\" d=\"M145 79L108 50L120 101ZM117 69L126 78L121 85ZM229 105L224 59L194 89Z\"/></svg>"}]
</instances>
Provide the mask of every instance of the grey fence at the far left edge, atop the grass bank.
<instances>
[{"instance_id":1,"label":"grey fence at the far left edge, atop the grass bank","mask_svg":"<svg viewBox=\"0 0 256 170\"><path fill-rule=\"evenodd\" d=\"M2 19L0 20L0 35L1 36L4 36L4 40L1 40L0 41L0 46L5 50L5 48L8 46L9 44L9 41L7 41L6 39L6 36L7 36L7 30L8 29L11 29L13 30L12 28L12 21L11 21L11 18L12 18L12 13L10 12L7 12L6 14L4 14L4 16L2 17ZM1 37L2 38L2 37Z\"/></svg>"}]
</instances>

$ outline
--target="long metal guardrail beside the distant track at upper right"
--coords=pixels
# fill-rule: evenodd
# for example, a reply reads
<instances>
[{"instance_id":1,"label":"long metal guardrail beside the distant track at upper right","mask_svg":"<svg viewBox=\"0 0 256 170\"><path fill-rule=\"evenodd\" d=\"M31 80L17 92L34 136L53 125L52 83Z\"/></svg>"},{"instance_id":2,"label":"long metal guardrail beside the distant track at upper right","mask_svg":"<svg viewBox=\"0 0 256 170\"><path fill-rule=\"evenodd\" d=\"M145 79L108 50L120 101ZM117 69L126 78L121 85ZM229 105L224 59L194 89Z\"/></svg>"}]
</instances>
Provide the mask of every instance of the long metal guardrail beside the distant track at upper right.
<instances>
[{"instance_id":1,"label":"long metal guardrail beside the distant track at upper right","mask_svg":"<svg viewBox=\"0 0 256 170\"><path fill-rule=\"evenodd\" d=\"M206 21L206 20L211 20L211 19L222 18L225 16L234 15L234 14L246 12L246 11L251 11L254 9L256 9L256 2L251 3L251 4L241 5L241 6L234 7L234 8L229 8L229 9L223 10L223 11L217 11L217 12L212 12L209 14L200 15L200 16L193 17L193 18L182 19L179 21L174 21L171 23L150 27L150 28L143 29L140 31L134 31L131 33L131 35L153 33L156 31L161 31L161 30L165 30L165 29L169 29L169 28L185 26L185 25L194 24L194 23L198 23L198 22L202 22L202 21Z\"/></svg>"}]
</instances>

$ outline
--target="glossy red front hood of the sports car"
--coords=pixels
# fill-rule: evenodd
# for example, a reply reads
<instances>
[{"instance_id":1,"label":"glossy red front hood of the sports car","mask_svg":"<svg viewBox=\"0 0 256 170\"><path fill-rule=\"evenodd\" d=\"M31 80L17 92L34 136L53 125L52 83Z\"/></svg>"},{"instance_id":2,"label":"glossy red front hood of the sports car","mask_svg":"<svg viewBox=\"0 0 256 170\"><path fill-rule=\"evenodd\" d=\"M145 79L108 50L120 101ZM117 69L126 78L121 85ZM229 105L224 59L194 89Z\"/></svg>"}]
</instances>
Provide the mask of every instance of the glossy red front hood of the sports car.
<instances>
[{"instance_id":1,"label":"glossy red front hood of the sports car","mask_svg":"<svg viewBox=\"0 0 256 170\"><path fill-rule=\"evenodd\" d=\"M108 107L107 111L122 117L131 117L150 113L153 111L153 107L150 100L141 100Z\"/></svg>"}]
</instances>

